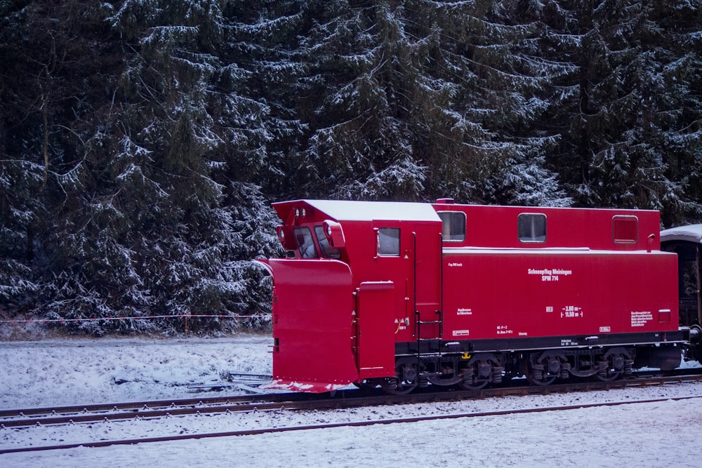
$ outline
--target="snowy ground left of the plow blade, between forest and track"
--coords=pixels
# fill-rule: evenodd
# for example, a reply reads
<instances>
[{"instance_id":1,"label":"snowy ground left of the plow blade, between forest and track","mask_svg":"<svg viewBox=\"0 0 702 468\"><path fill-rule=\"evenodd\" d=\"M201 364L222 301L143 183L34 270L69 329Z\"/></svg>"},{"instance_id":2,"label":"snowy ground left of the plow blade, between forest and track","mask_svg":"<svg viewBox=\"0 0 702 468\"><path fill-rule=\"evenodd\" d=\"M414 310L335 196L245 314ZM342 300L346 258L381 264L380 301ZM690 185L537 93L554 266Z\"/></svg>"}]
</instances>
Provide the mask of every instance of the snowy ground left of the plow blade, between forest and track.
<instances>
[{"instance_id":1,"label":"snowy ground left of the plow blade, between forest and track","mask_svg":"<svg viewBox=\"0 0 702 468\"><path fill-rule=\"evenodd\" d=\"M0 408L196 396L228 373L271 373L267 335L234 339L100 338L0 342ZM123 383L120 383L123 382Z\"/></svg>"}]
</instances>

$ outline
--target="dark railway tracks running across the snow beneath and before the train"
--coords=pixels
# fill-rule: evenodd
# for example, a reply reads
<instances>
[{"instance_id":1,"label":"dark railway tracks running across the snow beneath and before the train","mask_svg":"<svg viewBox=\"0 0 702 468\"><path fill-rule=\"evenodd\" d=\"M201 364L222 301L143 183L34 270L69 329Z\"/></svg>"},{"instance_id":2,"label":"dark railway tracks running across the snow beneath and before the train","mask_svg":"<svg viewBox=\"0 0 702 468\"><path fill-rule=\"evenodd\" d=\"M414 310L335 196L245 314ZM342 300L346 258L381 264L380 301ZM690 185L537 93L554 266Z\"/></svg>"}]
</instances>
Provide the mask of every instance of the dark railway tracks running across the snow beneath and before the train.
<instances>
[{"instance_id":1,"label":"dark railway tracks running across the snow beneath and before the train","mask_svg":"<svg viewBox=\"0 0 702 468\"><path fill-rule=\"evenodd\" d=\"M482 389L478 391L453 391L453 392L418 392L407 396L390 396L385 394L366 394L357 390L336 392L333 396L315 396L310 394L268 394L255 396L230 396L213 399L187 399L178 401L145 401L132 403L117 403L93 406L70 406L61 408L37 408L25 410L0 411L0 428L20 429L35 426L51 426L56 424L75 424L95 422L116 422L120 420L148 420L163 417L184 415L216 415L218 413L252 413L274 412L281 410L330 410L348 409L380 405L399 405L406 403L435 403L446 401L463 401L467 399L482 399L494 396L524 396L537 394L568 393L575 391L609 390L626 387L650 387L652 385L670 385L682 382L699 382L702 374L698 369L694 372L687 371L680 375L665 377L640 377L630 380L615 382L578 382L563 385L550 385L548 387L534 387L513 385L495 389ZM686 396L687 398L700 398L701 396ZM661 400L669 400L666 397ZM647 400L655 401L655 400ZM607 404L624 404L631 401L609 402ZM603 403L591 405L564 406L558 409L587 408L601 406ZM555 410L556 408L539 408L542 410ZM288 430L314 429L320 427L359 426L366 424L379 424L388 422L416 422L428 419L445 419L449 417L475 417L487 415L501 415L512 413L534 412L537 410L505 410L486 413L456 413L454 415L432 415L422 417L409 417L395 419L382 419L363 422L340 422L336 424L315 424L302 427L273 427L262 429L242 429L232 432L212 432L203 434L185 434L177 436L152 437L148 439L123 439L112 441L86 441L81 443L61 444L58 446L16 447L1 448L1 453L19 451L54 450L57 448L72 448L76 446L110 446L124 445L127 443L143 443L156 441L171 441L183 439L201 439L216 436L234 436L262 434L265 432L282 432Z\"/></svg>"}]
</instances>

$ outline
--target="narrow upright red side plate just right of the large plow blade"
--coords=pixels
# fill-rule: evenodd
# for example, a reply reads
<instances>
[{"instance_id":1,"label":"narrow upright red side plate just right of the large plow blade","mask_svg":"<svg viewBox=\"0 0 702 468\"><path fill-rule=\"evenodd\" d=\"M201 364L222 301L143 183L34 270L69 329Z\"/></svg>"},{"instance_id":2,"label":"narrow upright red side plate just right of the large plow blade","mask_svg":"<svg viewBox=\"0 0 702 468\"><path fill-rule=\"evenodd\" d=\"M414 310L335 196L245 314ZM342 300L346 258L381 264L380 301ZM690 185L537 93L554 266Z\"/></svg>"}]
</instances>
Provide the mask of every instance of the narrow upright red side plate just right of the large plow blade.
<instances>
[{"instance_id":1,"label":"narrow upright red side plate just right of the large plow blade","mask_svg":"<svg viewBox=\"0 0 702 468\"><path fill-rule=\"evenodd\" d=\"M395 375L395 285L361 283L358 291L359 374L361 379Z\"/></svg>"}]
</instances>

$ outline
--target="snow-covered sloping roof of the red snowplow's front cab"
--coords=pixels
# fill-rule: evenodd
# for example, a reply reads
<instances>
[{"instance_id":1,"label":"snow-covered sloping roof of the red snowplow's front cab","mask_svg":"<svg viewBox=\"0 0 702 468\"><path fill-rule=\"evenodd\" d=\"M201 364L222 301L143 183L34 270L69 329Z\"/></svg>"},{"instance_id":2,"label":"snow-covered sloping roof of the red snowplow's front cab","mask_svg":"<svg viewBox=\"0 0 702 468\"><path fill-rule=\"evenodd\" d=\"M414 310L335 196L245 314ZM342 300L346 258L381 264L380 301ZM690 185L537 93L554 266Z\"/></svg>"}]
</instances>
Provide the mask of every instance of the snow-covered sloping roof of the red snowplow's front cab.
<instances>
[{"instance_id":1,"label":"snow-covered sloping roof of the red snowplow's front cab","mask_svg":"<svg viewBox=\"0 0 702 468\"><path fill-rule=\"evenodd\" d=\"M337 221L436 221L441 218L430 203L399 201L298 200L273 203L279 214L307 204ZM281 216L282 219L285 219Z\"/></svg>"}]
</instances>

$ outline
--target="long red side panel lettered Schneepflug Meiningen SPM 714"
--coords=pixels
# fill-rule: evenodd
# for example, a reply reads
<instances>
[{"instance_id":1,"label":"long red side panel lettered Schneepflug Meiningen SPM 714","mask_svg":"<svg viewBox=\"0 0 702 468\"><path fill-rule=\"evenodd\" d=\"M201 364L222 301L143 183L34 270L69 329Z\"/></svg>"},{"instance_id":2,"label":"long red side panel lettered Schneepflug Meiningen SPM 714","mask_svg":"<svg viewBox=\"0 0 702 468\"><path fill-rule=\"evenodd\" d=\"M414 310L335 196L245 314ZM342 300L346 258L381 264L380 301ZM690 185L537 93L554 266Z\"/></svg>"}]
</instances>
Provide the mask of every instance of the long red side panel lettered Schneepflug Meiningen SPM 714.
<instances>
[{"instance_id":1,"label":"long red side panel lettered Schneepflug Meiningen SPM 714","mask_svg":"<svg viewBox=\"0 0 702 468\"><path fill-rule=\"evenodd\" d=\"M444 339L677 330L675 255L470 250L444 256Z\"/></svg>"}]
</instances>

